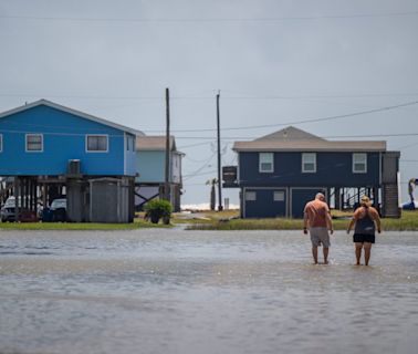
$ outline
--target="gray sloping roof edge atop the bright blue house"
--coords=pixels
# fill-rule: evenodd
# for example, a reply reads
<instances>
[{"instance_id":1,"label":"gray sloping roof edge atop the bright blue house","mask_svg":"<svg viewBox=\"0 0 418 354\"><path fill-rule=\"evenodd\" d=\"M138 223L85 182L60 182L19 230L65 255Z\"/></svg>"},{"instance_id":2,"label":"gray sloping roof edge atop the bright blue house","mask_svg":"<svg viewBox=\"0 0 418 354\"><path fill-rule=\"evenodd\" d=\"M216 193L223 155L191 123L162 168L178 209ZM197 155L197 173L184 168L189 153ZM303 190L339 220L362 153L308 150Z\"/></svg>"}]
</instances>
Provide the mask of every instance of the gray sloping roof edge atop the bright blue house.
<instances>
[{"instance_id":1,"label":"gray sloping roof edge atop the bright blue house","mask_svg":"<svg viewBox=\"0 0 418 354\"><path fill-rule=\"evenodd\" d=\"M136 129L129 128L127 126L124 126L124 125L121 125L121 124L117 124L117 123L113 123L113 122L96 117L94 115L91 115L91 114L87 114L87 113L84 113L84 112L80 112L80 111L76 111L76 110L73 110L73 108L69 108L69 107L62 106L60 104L53 103L53 102L48 101L48 100L39 100L39 101L35 101L35 102L25 104L23 106L13 108L13 110L2 112L2 113L0 113L0 118L3 118L6 116L12 115L12 114L15 114L15 113L19 113L19 112L27 111L27 110L30 110L30 108L33 108L33 107L36 107L36 106L41 106L41 105L52 107L52 108L55 108L58 111L66 112L66 113L76 115L79 117L82 117L82 118L85 118L85 119L88 119L88 121L93 121L93 122L96 122L96 123L100 123L100 124L103 124L103 125L106 125L106 126L111 126L115 129L119 129L119 131L130 133L130 134L134 134L134 135L137 135L137 136L144 135L144 133L140 132L140 131L136 131Z\"/></svg>"}]
</instances>

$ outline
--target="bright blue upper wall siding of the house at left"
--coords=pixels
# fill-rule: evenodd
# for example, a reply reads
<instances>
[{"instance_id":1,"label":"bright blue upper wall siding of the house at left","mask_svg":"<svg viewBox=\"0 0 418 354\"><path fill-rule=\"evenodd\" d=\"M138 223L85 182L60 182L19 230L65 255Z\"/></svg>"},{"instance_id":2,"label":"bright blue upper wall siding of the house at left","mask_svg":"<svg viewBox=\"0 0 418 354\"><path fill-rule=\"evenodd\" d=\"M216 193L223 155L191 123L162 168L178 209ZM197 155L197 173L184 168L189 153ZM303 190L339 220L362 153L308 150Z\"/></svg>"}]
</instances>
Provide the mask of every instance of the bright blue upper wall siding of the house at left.
<instances>
[{"instance_id":1,"label":"bright blue upper wall siding of the house at left","mask_svg":"<svg viewBox=\"0 0 418 354\"><path fill-rule=\"evenodd\" d=\"M84 175L122 176L135 171L125 162L124 132L77 115L39 105L0 119L3 150L0 175L62 175L69 159L81 160ZM25 134L43 134L43 152L25 153ZM108 135L107 153L86 153L85 135ZM134 175L134 174L132 174Z\"/></svg>"}]
</instances>

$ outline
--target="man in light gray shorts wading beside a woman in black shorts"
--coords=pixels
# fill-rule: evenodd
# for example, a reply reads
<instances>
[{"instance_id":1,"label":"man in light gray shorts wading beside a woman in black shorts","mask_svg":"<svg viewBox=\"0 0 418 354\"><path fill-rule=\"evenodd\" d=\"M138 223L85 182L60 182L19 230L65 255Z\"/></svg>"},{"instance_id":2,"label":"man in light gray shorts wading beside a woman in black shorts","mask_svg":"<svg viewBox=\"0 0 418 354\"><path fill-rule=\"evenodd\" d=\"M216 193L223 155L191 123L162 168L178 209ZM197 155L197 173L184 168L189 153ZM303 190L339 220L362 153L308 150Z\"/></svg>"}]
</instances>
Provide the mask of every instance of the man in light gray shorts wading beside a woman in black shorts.
<instances>
[{"instance_id":1,"label":"man in light gray shorts wading beside a woman in black shorts","mask_svg":"<svg viewBox=\"0 0 418 354\"><path fill-rule=\"evenodd\" d=\"M333 231L328 205L322 192L316 194L315 199L306 204L303 218L303 233L311 233L312 256L314 263L317 264L317 248L322 243L324 252L324 264L328 263L330 233Z\"/></svg>"}]
</instances>

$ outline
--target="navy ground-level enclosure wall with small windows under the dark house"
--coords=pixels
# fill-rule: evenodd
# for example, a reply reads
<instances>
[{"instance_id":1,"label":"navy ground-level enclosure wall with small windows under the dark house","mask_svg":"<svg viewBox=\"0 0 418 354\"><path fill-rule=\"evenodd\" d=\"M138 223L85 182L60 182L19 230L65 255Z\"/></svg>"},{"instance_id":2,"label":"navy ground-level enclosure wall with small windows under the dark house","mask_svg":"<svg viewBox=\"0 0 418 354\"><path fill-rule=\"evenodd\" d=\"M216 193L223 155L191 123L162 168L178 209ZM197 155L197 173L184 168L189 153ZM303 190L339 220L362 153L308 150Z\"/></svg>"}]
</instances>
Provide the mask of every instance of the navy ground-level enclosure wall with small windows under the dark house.
<instances>
[{"instance_id":1,"label":"navy ground-level enclosure wall with small windows under the dark house","mask_svg":"<svg viewBox=\"0 0 418 354\"><path fill-rule=\"evenodd\" d=\"M274 191L284 192L283 201L275 201ZM245 191L255 192L255 200L245 200ZM242 194L244 199L244 217L245 218L276 218L286 216L288 194L285 189L272 188L245 188Z\"/></svg>"}]
</instances>

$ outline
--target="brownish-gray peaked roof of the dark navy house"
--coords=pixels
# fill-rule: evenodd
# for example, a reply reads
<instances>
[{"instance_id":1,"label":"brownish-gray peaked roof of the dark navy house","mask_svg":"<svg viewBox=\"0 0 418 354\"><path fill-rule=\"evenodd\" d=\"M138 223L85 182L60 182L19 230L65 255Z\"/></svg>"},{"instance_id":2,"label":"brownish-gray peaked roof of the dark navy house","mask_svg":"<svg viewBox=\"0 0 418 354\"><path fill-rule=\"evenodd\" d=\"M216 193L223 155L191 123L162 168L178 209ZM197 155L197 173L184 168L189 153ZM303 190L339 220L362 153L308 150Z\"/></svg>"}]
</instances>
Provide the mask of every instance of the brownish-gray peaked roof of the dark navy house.
<instances>
[{"instance_id":1,"label":"brownish-gray peaked roof of the dark navy house","mask_svg":"<svg viewBox=\"0 0 418 354\"><path fill-rule=\"evenodd\" d=\"M326 140L288 127L252 142L234 142L234 152L385 152L384 140Z\"/></svg>"}]
</instances>

